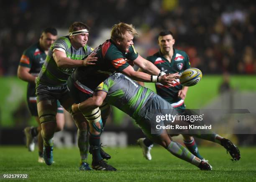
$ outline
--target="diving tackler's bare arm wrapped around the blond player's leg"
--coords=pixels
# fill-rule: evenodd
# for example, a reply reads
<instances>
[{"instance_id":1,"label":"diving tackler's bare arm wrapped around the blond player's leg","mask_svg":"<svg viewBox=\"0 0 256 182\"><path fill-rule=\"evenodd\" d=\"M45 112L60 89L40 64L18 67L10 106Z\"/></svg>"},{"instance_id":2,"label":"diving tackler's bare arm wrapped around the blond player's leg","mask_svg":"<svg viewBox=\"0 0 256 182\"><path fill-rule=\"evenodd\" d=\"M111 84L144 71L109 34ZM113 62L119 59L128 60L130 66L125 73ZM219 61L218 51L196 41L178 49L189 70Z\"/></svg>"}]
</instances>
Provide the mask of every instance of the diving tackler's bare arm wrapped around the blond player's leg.
<instances>
[{"instance_id":1,"label":"diving tackler's bare arm wrapped around the blond player's leg","mask_svg":"<svg viewBox=\"0 0 256 182\"><path fill-rule=\"evenodd\" d=\"M106 98L106 96L107 96L107 93L104 91L95 91L93 93L93 96L87 99L86 101L83 101L79 104L73 104L72 111L74 113L77 113L77 112L88 113L93 109L100 107L104 99Z\"/></svg>"}]
</instances>

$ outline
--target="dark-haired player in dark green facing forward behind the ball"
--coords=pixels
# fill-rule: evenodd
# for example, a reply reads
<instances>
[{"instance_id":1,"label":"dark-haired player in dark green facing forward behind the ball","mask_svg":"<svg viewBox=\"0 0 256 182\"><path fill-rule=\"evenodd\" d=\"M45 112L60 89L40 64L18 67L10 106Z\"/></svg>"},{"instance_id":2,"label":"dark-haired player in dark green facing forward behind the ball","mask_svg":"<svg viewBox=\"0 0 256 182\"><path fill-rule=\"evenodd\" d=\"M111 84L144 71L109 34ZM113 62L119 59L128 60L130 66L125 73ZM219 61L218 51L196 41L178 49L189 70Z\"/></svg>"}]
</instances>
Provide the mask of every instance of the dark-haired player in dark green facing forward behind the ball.
<instances>
[{"instance_id":1,"label":"dark-haired player in dark green facing forward behind the ball","mask_svg":"<svg viewBox=\"0 0 256 182\"><path fill-rule=\"evenodd\" d=\"M159 52L155 53L153 56L148 56L146 59L165 73L182 73L184 70L190 68L189 57L184 51L173 48L174 43L175 39L171 31L161 31L158 36ZM143 82L139 82L139 84L144 86ZM155 86L156 93L177 109L179 114L186 112L184 99L187 95L187 86L182 86L179 83L174 83L174 87L164 86L161 83L156 83ZM183 138L184 144L189 151L196 157L205 160L200 155L194 138L187 135L183 135ZM138 139L137 142L143 150L144 157L151 160L150 150L153 147L153 142L148 138Z\"/></svg>"}]
</instances>

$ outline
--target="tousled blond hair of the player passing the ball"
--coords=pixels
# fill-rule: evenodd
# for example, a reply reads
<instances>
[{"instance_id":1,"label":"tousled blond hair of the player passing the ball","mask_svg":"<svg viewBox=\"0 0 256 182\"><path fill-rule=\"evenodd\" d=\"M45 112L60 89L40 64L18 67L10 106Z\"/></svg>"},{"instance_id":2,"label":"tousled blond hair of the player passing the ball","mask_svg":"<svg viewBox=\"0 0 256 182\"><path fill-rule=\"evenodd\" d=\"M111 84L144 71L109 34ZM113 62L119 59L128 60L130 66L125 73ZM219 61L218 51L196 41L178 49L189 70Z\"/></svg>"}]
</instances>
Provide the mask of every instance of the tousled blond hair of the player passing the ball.
<instances>
[{"instance_id":1,"label":"tousled blond hair of the player passing the ball","mask_svg":"<svg viewBox=\"0 0 256 182\"><path fill-rule=\"evenodd\" d=\"M123 40L124 34L128 32L133 36L138 36L137 31L135 30L132 24L127 23L118 23L115 24L111 29L111 40L115 41L116 39Z\"/></svg>"}]
</instances>

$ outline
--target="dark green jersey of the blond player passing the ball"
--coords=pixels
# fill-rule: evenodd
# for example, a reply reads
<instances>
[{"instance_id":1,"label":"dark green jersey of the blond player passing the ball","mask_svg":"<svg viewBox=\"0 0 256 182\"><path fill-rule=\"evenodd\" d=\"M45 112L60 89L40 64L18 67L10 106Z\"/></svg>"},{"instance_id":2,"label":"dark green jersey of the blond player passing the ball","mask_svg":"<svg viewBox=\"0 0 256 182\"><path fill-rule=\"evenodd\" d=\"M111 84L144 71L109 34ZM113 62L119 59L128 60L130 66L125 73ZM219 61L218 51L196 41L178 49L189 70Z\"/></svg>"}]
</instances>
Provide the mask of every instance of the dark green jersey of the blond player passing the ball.
<instances>
[{"instance_id":1,"label":"dark green jersey of the blond player passing the ball","mask_svg":"<svg viewBox=\"0 0 256 182\"><path fill-rule=\"evenodd\" d=\"M138 58L138 53L133 46L130 46L126 53L120 51L111 40L106 40L93 52L97 53L98 60L96 64L78 67L72 74L75 84L84 85L84 89L89 92L95 90L102 81L115 71L120 72L127 68L129 64L125 61L125 58L130 61Z\"/></svg>"}]
</instances>

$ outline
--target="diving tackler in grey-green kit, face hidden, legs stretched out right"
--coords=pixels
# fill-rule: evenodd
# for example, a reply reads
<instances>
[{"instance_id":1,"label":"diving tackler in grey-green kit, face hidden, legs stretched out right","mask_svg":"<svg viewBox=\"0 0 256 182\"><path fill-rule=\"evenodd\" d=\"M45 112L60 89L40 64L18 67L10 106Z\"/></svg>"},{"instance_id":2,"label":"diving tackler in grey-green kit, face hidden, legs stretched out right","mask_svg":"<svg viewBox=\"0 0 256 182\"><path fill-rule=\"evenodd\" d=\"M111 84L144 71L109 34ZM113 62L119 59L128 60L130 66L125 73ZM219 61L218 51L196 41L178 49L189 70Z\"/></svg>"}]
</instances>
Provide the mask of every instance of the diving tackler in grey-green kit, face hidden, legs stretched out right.
<instances>
[{"instance_id":1,"label":"diving tackler in grey-green kit, face hidden, legs stretched out right","mask_svg":"<svg viewBox=\"0 0 256 182\"><path fill-rule=\"evenodd\" d=\"M200 169L211 170L212 167L210 164L190 153L179 143L172 141L172 138L169 137L165 129L154 127L156 126L156 115L175 115L177 110L175 110L169 102L162 99L150 89L140 86L128 76L115 73L97 87L93 93L93 97L79 104L74 104L72 110L74 113L80 111L84 113L90 109L97 108L104 100L135 119L136 123L148 138L163 146L176 157L190 162ZM163 121L157 124L164 126ZM232 144L230 140L212 132L212 134L200 134L202 131L198 133L199 134L193 135L221 144L228 150L233 159L236 161L240 159L238 148Z\"/></svg>"}]
</instances>

